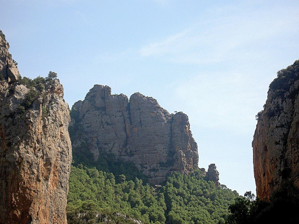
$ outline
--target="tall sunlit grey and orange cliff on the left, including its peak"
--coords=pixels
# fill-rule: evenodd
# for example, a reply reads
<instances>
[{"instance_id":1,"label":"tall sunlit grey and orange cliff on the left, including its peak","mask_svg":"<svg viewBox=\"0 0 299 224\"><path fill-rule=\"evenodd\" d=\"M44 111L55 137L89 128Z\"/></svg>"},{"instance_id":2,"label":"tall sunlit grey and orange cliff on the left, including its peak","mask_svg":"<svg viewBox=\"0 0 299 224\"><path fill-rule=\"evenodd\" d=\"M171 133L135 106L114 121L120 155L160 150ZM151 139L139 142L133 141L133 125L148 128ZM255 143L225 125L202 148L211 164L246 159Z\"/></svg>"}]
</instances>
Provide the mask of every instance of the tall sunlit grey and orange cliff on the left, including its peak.
<instances>
[{"instance_id":1,"label":"tall sunlit grey and orange cliff on the left, including its peak","mask_svg":"<svg viewBox=\"0 0 299 224\"><path fill-rule=\"evenodd\" d=\"M0 223L66 224L70 121L58 80L21 84L0 38Z\"/></svg>"}]
</instances>

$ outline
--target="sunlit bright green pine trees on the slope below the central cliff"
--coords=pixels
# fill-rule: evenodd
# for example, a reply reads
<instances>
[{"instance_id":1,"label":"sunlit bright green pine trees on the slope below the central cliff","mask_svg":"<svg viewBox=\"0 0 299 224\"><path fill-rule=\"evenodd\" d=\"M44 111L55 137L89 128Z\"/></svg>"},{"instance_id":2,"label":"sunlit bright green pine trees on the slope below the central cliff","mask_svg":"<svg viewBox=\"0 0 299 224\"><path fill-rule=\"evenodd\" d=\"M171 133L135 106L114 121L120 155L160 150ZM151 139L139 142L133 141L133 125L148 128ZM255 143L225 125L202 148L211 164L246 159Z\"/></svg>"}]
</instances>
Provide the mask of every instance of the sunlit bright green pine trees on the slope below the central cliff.
<instances>
[{"instance_id":1,"label":"sunlit bright green pine trees on the slope below the central cliff","mask_svg":"<svg viewBox=\"0 0 299 224\"><path fill-rule=\"evenodd\" d=\"M84 215L80 219L78 214L88 214L90 222L97 223L98 213L114 220L112 214L120 212L144 224L216 224L224 223L236 196L236 191L215 187L200 175L175 173L154 189L137 178L128 181L124 175L78 165L72 167L69 180L67 217L68 223L79 224Z\"/></svg>"}]
</instances>

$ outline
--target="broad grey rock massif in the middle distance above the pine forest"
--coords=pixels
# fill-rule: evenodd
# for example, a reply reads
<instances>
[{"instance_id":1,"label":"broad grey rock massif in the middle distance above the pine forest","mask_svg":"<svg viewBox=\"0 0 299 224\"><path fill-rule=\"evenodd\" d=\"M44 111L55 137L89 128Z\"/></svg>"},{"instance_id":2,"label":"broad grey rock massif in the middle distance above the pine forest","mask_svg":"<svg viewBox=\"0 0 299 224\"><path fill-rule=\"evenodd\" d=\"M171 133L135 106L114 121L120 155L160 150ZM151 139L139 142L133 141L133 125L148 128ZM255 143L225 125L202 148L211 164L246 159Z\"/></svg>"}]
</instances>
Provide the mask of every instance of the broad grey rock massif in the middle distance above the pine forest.
<instances>
[{"instance_id":1,"label":"broad grey rock massif in the middle distance above the pine forest","mask_svg":"<svg viewBox=\"0 0 299 224\"><path fill-rule=\"evenodd\" d=\"M133 162L158 184L167 174L188 174L198 168L197 144L188 116L170 114L152 97L134 93L111 95L108 86L94 85L83 101L72 107L73 150L84 143L96 161L103 153Z\"/></svg>"}]
</instances>

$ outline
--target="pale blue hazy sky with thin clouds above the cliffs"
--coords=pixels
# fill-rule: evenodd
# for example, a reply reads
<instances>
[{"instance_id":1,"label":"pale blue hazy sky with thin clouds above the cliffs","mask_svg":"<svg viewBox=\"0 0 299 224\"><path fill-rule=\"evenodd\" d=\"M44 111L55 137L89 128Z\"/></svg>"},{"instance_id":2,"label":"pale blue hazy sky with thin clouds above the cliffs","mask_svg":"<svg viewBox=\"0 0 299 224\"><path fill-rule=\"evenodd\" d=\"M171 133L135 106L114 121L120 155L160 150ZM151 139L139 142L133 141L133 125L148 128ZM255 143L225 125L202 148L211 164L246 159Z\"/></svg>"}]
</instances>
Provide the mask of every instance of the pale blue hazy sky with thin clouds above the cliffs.
<instances>
[{"instance_id":1,"label":"pale blue hazy sky with thin clouds above the cliffs","mask_svg":"<svg viewBox=\"0 0 299 224\"><path fill-rule=\"evenodd\" d=\"M22 76L58 73L70 107L94 84L152 96L189 116L199 167L255 191L255 115L276 72L299 59L297 1L0 0Z\"/></svg>"}]
</instances>

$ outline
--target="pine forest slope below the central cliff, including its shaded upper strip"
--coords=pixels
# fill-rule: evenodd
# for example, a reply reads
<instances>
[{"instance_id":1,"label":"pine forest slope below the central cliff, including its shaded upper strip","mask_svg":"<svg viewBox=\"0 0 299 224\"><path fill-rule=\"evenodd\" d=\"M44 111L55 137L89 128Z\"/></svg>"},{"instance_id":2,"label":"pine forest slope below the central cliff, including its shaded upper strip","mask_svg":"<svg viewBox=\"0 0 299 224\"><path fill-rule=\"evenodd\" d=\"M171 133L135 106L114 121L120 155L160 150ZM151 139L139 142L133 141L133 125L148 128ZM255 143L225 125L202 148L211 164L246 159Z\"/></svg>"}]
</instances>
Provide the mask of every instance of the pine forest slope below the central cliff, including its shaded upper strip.
<instances>
[{"instance_id":1,"label":"pine forest slope below the central cliff, including its shaded upper strip","mask_svg":"<svg viewBox=\"0 0 299 224\"><path fill-rule=\"evenodd\" d=\"M76 111L71 111L76 119ZM80 126L69 130L76 138ZM147 177L130 162L100 153L97 161L83 141L73 150L69 179L67 218L69 224L218 224L225 223L237 191L216 187L199 170L191 175L174 173L161 187L151 186ZM120 213L125 215L115 215Z\"/></svg>"}]
</instances>

